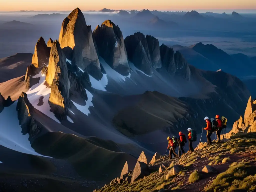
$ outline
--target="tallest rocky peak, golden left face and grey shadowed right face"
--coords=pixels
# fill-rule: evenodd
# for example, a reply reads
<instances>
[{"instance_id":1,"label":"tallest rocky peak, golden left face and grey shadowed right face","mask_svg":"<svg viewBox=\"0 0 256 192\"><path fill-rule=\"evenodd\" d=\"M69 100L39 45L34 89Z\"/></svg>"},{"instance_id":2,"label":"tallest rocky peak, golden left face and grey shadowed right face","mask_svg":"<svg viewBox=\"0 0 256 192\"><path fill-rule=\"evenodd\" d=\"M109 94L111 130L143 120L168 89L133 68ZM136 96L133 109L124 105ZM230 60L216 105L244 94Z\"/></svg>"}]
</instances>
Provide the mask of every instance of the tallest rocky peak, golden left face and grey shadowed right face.
<instances>
[{"instance_id":1,"label":"tallest rocky peak, golden left face and grey shadowed right face","mask_svg":"<svg viewBox=\"0 0 256 192\"><path fill-rule=\"evenodd\" d=\"M86 25L83 13L79 8L74 9L66 17L61 26L59 35L60 46L66 57L82 70L93 65L97 79L102 78L100 62L94 47L91 26Z\"/></svg>"}]
</instances>

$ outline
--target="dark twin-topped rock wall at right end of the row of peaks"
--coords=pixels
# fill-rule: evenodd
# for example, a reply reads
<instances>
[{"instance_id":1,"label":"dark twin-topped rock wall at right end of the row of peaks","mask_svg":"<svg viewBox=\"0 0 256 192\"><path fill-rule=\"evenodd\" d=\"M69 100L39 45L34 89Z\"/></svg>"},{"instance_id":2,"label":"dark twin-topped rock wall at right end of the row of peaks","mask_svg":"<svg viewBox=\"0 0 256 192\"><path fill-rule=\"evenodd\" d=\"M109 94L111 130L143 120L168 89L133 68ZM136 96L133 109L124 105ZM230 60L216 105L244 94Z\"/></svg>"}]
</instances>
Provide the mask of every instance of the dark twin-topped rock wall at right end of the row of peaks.
<instances>
[{"instance_id":1,"label":"dark twin-topped rock wall at right end of the row of peaks","mask_svg":"<svg viewBox=\"0 0 256 192\"><path fill-rule=\"evenodd\" d=\"M162 44L160 46L162 67L165 68L169 74L178 74L186 80L190 79L190 69L185 58L179 51L174 53L173 49Z\"/></svg>"}]
</instances>

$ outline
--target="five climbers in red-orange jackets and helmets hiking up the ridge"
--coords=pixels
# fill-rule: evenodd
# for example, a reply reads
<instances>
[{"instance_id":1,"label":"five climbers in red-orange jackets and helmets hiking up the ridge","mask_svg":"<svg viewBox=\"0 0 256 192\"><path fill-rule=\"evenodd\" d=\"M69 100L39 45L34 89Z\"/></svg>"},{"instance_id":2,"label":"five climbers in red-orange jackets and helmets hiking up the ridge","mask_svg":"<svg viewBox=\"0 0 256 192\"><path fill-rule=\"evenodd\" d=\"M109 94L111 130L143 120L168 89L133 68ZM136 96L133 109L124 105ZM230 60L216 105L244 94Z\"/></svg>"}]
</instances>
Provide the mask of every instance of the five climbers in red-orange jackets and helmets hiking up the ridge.
<instances>
[{"instance_id":1,"label":"five climbers in red-orange jackets and helmets hiking up the ridge","mask_svg":"<svg viewBox=\"0 0 256 192\"><path fill-rule=\"evenodd\" d=\"M213 132L216 132L217 134L217 142L220 142L220 134L221 134L221 130L225 129L227 127L227 118L225 118L224 116L222 116L222 118L220 119L219 115L216 115L215 118L211 118L209 119L207 116L205 117L205 122L206 122L206 127L203 128L203 130L207 131L206 137L207 137L207 145L211 145L211 134ZM192 143L194 141L196 141L196 131L192 130L191 128L188 128L188 146L189 146L189 152L192 153L194 152L194 148L192 146ZM173 138L171 137L167 137L168 140L168 147L167 150L169 150L169 159L172 159L172 154L174 156L179 156L179 154L182 153L184 154L185 151L183 149L183 147L185 146L185 143L187 143L187 139L186 139L186 135L183 134L181 131L179 132L179 138L173 136ZM175 152L175 149L179 147L178 149L178 155ZM181 150L181 151L180 151ZM167 151L166 151L167 152Z\"/></svg>"}]
</instances>

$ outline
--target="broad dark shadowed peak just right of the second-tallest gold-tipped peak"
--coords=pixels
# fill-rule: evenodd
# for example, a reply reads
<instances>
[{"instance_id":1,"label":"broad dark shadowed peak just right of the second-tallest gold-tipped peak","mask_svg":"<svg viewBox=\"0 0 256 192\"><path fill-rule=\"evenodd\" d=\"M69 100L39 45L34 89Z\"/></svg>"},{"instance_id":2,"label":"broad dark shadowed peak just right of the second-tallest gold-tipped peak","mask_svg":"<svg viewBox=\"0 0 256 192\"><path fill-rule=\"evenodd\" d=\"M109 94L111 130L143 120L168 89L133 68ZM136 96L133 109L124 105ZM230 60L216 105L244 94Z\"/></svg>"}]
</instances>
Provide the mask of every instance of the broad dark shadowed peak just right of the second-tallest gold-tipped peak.
<instances>
[{"instance_id":1,"label":"broad dark shadowed peak just right of the second-tallest gold-tipped peak","mask_svg":"<svg viewBox=\"0 0 256 192\"><path fill-rule=\"evenodd\" d=\"M152 75L152 62L145 35L137 32L124 39L128 59L147 75Z\"/></svg>"}]
</instances>

